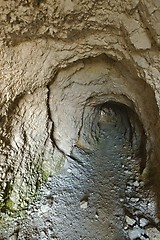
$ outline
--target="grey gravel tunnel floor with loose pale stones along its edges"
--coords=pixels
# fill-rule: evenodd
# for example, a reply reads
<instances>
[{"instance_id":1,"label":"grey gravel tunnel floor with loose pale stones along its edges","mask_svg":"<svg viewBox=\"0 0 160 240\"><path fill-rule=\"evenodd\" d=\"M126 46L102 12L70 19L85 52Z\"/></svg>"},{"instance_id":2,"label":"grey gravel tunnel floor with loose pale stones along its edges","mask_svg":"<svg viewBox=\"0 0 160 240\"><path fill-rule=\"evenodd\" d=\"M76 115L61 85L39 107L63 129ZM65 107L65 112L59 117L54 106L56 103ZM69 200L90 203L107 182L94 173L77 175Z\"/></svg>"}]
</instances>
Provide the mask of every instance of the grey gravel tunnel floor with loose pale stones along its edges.
<instances>
[{"instance_id":1,"label":"grey gravel tunnel floor with loose pale stones along its edges","mask_svg":"<svg viewBox=\"0 0 160 240\"><path fill-rule=\"evenodd\" d=\"M103 125L94 151L72 155L6 239L160 239L154 193L139 179L124 132Z\"/></svg>"}]
</instances>

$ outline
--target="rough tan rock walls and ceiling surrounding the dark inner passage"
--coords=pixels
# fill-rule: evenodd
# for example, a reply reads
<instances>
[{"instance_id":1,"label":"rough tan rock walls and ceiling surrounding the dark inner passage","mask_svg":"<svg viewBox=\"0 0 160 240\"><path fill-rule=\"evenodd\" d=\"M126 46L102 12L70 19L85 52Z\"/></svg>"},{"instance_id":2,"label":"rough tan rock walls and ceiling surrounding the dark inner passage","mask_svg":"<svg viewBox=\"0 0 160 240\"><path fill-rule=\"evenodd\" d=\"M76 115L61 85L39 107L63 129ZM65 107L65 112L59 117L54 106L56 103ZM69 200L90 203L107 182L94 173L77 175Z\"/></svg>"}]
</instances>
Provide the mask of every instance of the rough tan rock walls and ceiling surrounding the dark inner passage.
<instances>
[{"instance_id":1,"label":"rough tan rock walls and ceiling surrounding the dark inner passage","mask_svg":"<svg viewBox=\"0 0 160 240\"><path fill-rule=\"evenodd\" d=\"M2 0L0 13L3 214L26 207L75 145L88 149L107 101L137 113L158 169L159 0Z\"/></svg>"}]
</instances>

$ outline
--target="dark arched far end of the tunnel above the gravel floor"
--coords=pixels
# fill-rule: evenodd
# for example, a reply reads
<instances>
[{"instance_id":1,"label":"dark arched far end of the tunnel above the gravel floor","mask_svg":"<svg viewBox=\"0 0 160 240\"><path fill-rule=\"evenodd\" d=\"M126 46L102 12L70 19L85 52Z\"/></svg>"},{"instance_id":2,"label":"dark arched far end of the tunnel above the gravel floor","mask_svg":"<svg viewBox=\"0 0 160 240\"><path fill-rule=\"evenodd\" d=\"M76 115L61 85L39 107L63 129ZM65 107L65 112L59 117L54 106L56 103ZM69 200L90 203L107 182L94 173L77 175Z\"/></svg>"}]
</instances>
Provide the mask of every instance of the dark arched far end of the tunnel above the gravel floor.
<instances>
[{"instance_id":1,"label":"dark arched far end of the tunnel above the gravel floor","mask_svg":"<svg viewBox=\"0 0 160 240\"><path fill-rule=\"evenodd\" d=\"M137 113L127 105L113 101L101 104L98 108L100 138L102 135L108 138L112 136L117 145L129 147L130 153L140 158L139 170L142 173L146 166L146 135Z\"/></svg>"}]
</instances>

